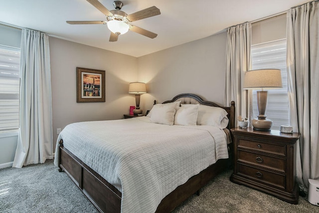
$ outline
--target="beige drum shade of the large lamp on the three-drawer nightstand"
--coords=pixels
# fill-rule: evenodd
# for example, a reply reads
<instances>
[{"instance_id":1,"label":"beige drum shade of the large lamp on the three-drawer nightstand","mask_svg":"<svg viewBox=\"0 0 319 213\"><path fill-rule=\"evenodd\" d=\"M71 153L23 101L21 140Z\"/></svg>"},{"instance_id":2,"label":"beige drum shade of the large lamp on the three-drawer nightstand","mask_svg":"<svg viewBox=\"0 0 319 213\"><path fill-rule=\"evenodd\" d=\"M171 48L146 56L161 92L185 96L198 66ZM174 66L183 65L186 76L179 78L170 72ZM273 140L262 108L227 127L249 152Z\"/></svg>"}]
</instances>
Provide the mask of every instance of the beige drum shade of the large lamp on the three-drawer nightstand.
<instances>
[{"instance_id":1,"label":"beige drum shade of the large lamp on the three-drawer nightstand","mask_svg":"<svg viewBox=\"0 0 319 213\"><path fill-rule=\"evenodd\" d=\"M282 88L280 69L256 69L245 73L244 89Z\"/></svg>"}]
</instances>

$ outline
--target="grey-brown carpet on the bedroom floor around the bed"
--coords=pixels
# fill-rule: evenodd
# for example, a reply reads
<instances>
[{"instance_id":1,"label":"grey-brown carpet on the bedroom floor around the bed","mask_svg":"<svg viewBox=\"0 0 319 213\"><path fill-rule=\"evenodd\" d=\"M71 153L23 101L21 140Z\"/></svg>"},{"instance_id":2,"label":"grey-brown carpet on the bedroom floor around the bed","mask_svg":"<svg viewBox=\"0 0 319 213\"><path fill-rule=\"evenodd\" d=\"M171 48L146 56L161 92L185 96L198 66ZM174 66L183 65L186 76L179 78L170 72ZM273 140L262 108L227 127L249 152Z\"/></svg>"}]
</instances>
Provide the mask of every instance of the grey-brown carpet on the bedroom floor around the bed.
<instances>
[{"instance_id":1,"label":"grey-brown carpet on the bedroom floor around the bed","mask_svg":"<svg viewBox=\"0 0 319 213\"><path fill-rule=\"evenodd\" d=\"M300 198L298 205L239 186L225 171L173 213L319 213L319 207ZM22 169L0 169L0 213L98 212L52 160Z\"/></svg>"}]
</instances>

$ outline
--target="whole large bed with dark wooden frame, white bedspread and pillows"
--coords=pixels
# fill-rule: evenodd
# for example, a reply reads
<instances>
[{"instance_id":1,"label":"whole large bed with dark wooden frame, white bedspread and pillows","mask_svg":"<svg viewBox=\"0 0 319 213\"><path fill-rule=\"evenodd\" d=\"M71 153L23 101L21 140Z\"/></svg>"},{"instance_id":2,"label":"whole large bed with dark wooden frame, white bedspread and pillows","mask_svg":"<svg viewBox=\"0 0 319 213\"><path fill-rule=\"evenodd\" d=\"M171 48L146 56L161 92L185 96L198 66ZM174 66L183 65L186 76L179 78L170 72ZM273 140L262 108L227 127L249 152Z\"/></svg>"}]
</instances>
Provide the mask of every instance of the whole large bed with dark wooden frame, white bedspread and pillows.
<instances>
[{"instance_id":1,"label":"whole large bed with dark wooden frame, white bedspread and pillows","mask_svg":"<svg viewBox=\"0 0 319 213\"><path fill-rule=\"evenodd\" d=\"M206 106L223 109L227 123L189 125L194 108L199 118ZM173 123L165 123L159 112L170 118L173 108ZM100 212L170 212L227 167L234 112L234 102L221 107L180 94L148 116L70 124L58 137L54 163Z\"/></svg>"}]
</instances>

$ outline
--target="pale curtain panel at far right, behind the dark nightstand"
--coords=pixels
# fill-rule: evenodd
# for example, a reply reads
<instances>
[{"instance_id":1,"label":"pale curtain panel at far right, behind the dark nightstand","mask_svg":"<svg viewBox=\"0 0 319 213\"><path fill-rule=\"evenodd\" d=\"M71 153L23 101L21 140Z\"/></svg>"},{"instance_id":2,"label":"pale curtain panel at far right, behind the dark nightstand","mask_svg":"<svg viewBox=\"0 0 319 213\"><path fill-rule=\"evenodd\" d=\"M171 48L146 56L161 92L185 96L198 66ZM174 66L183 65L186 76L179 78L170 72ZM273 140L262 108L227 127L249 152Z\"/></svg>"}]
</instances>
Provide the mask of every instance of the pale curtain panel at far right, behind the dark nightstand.
<instances>
[{"instance_id":1,"label":"pale curtain panel at far right, behind the dark nightstand","mask_svg":"<svg viewBox=\"0 0 319 213\"><path fill-rule=\"evenodd\" d=\"M319 6L308 2L287 13L287 71L291 125L297 142L297 182L319 180Z\"/></svg>"}]
</instances>

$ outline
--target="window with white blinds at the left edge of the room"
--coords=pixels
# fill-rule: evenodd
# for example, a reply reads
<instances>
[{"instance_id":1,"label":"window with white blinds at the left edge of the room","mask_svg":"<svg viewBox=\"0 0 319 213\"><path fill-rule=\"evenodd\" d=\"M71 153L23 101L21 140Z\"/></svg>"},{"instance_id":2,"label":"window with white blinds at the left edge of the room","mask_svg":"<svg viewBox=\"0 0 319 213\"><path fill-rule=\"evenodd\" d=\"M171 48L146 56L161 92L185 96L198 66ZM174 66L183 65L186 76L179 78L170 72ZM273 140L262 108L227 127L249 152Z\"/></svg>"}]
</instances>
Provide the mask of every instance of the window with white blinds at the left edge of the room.
<instances>
[{"instance_id":1,"label":"window with white blinds at the left edge of the room","mask_svg":"<svg viewBox=\"0 0 319 213\"><path fill-rule=\"evenodd\" d=\"M0 137L19 128L20 49L0 45Z\"/></svg>"}]
</instances>

